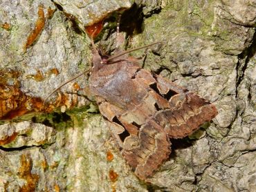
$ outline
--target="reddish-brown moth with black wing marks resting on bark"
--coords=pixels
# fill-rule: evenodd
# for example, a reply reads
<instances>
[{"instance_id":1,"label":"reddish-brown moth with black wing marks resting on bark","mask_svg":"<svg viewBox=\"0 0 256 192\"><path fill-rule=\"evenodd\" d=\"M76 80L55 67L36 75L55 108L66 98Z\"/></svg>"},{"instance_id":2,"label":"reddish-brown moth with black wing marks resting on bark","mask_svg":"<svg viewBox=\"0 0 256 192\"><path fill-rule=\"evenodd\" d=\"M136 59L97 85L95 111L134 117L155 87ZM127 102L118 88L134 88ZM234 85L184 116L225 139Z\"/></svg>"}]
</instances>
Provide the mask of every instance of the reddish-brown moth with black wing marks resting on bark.
<instances>
[{"instance_id":1,"label":"reddish-brown moth with black wing marks resting on bark","mask_svg":"<svg viewBox=\"0 0 256 192\"><path fill-rule=\"evenodd\" d=\"M117 41L123 41L117 34ZM140 180L146 180L169 157L170 138L190 135L214 118L217 108L141 68L126 52L116 49L114 55L107 56L93 47L89 89L122 156Z\"/></svg>"}]
</instances>

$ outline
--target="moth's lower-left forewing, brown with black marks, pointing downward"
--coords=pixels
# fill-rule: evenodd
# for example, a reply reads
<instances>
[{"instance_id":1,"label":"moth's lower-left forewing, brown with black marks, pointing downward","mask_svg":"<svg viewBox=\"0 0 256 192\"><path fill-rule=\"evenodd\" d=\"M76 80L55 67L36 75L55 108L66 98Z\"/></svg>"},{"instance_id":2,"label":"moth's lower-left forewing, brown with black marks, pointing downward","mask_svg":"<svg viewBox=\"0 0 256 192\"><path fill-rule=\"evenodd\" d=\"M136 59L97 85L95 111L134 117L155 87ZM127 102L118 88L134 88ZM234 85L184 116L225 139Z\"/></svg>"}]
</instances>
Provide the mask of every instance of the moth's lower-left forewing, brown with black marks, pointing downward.
<instances>
[{"instance_id":1,"label":"moth's lower-left forewing, brown with black marks, pointing downward","mask_svg":"<svg viewBox=\"0 0 256 192\"><path fill-rule=\"evenodd\" d=\"M101 102L99 108L134 173L141 180L153 175L171 153L171 143L163 128L154 119L145 119L138 128L138 124L130 122L136 121L136 115L131 116L133 112L122 111L109 102ZM127 116L121 117L125 114Z\"/></svg>"}]
</instances>

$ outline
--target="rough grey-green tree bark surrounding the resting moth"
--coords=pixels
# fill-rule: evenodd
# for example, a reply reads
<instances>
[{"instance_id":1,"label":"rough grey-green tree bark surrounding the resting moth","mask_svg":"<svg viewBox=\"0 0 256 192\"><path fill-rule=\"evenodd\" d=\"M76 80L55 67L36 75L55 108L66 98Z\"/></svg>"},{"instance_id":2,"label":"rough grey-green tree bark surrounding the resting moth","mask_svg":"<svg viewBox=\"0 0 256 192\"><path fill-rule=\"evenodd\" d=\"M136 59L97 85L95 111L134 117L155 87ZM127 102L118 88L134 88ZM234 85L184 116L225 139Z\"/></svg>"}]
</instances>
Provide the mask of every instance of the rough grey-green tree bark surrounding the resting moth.
<instances>
[{"instance_id":1,"label":"rough grey-green tree bark surrounding the resting moth","mask_svg":"<svg viewBox=\"0 0 256 192\"><path fill-rule=\"evenodd\" d=\"M88 14L83 10L89 7L86 4L77 1L75 8L80 12L75 11L75 22L66 19L57 6L25 52L40 3L45 15L48 7L56 6L50 0L0 1L0 67L20 72L24 93L45 98L63 81L90 67L89 38L77 30L75 22L81 27L91 20L79 17ZM109 12L132 3L113 3ZM134 175L109 127L89 102L66 113L33 114L3 122L0 191L256 191L256 1L136 3L125 13L129 19L121 23L129 34L129 47L163 41L161 47L147 53L144 68L210 100L219 115L194 135L172 140L170 160L151 184ZM60 4L66 14L74 14L64 0ZM95 21L109 14L103 8L96 10ZM97 39L107 50L114 48L112 20L107 20L109 25ZM143 51L133 55L139 57ZM60 73L47 75L53 68ZM40 81L33 76L37 70L43 74ZM85 77L76 81L86 86ZM71 87L72 83L62 91L70 92ZM107 157L109 151L113 160Z\"/></svg>"}]
</instances>

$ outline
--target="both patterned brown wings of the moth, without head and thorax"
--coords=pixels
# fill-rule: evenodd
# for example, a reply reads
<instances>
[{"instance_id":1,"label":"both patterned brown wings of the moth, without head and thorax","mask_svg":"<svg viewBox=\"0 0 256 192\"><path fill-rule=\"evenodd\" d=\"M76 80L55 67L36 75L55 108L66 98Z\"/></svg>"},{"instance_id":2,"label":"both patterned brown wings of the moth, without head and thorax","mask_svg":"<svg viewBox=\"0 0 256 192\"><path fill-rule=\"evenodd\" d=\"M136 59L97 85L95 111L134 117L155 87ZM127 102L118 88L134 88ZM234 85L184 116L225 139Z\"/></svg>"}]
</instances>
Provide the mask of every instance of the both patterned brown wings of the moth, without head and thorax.
<instances>
[{"instance_id":1,"label":"both patterned brown wings of the moth, without head and thorax","mask_svg":"<svg viewBox=\"0 0 256 192\"><path fill-rule=\"evenodd\" d=\"M170 155L169 137L190 135L217 115L217 109L199 95L147 70L130 72L129 77L125 83L132 84L129 93L134 96L126 108L112 102L108 95L98 96L97 100L100 113L111 123L122 155L135 174L145 180ZM116 87L128 97L126 85Z\"/></svg>"}]
</instances>

